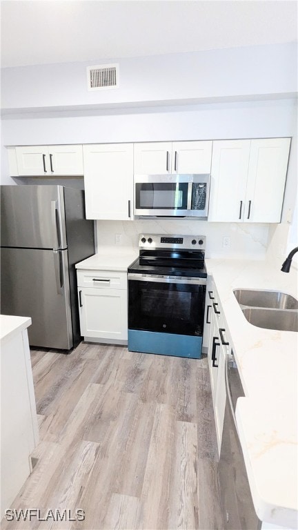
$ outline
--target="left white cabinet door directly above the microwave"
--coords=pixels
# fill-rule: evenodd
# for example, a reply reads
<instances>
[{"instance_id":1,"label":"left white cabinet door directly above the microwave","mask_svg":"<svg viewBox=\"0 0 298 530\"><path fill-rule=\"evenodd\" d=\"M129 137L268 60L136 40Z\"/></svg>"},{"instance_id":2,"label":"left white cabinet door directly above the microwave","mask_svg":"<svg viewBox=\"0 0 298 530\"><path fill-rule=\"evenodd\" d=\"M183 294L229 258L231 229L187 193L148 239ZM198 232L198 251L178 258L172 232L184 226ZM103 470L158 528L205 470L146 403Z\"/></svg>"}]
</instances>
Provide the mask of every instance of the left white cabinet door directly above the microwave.
<instances>
[{"instance_id":1,"label":"left white cabinet door directly above the microwave","mask_svg":"<svg viewBox=\"0 0 298 530\"><path fill-rule=\"evenodd\" d=\"M171 173L172 142L158 141L134 145L135 175Z\"/></svg>"}]
</instances>

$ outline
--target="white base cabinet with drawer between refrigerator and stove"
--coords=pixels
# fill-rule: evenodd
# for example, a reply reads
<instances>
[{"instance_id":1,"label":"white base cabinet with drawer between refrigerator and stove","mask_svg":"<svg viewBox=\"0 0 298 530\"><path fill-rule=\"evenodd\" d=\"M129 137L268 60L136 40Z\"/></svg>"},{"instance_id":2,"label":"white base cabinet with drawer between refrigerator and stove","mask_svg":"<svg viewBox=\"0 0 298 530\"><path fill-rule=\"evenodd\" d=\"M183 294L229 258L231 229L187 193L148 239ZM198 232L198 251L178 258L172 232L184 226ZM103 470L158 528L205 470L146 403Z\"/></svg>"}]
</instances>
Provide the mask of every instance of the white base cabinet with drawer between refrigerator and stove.
<instances>
[{"instance_id":1,"label":"white base cabinet with drawer between refrigerator and stove","mask_svg":"<svg viewBox=\"0 0 298 530\"><path fill-rule=\"evenodd\" d=\"M127 274L78 271L81 335L92 342L126 344L128 337Z\"/></svg>"}]
</instances>

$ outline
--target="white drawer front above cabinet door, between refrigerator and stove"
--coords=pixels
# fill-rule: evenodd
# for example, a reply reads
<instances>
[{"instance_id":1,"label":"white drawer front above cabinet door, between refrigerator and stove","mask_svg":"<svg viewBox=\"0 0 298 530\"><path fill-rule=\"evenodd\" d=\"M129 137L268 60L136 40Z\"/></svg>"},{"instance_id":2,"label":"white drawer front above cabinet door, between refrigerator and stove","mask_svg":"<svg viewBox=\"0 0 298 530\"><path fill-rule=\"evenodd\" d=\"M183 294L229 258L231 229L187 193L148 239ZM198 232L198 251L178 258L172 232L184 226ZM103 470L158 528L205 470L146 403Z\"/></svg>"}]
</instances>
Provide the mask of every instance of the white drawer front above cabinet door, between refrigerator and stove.
<instances>
[{"instance_id":1,"label":"white drawer front above cabinet door, between refrigerator and stove","mask_svg":"<svg viewBox=\"0 0 298 530\"><path fill-rule=\"evenodd\" d=\"M127 273L117 271L77 271L78 287L126 289Z\"/></svg>"}]
</instances>

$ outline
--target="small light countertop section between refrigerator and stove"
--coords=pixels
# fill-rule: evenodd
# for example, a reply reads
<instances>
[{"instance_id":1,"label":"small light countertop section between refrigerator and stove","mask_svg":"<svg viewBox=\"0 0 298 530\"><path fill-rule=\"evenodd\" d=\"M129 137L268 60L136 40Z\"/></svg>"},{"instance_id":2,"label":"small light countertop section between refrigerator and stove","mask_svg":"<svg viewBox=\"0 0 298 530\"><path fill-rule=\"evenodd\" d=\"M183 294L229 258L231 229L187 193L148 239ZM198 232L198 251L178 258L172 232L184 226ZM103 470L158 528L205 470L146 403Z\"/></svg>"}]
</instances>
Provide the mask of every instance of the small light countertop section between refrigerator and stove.
<instances>
[{"instance_id":1,"label":"small light countertop section between refrigerator and stove","mask_svg":"<svg viewBox=\"0 0 298 530\"><path fill-rule=\"evenodd\" d=\"M100 271L125 271L128 266L137 259L139 252L126 247L105 247L98 248L97 254L83 259L76 264L79 270L97 270Z\"/></svg>"}]
</instances>

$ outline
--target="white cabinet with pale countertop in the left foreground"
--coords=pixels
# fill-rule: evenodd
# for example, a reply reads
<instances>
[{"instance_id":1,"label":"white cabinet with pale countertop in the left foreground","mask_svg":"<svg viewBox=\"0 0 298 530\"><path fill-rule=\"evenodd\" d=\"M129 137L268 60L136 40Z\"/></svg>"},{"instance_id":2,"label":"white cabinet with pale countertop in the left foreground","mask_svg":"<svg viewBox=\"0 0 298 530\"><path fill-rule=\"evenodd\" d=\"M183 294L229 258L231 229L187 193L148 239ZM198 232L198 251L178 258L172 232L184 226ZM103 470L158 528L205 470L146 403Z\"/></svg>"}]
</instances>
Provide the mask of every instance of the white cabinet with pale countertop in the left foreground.
<instances>
[{"instance_id":1,"label":"white cabinet with pale countertop in the left foreground","mask_svg":"<svg viewBox=\"0 0 298 530\"><path fill-rule=\"evenodd\" d=\"M1 520L32 472L30 455L39 442L39 427L28 333L23 328L30 324L19 326L23 317L1 315L0 320ZM11 330L7 335L6 329Z\"/></svg>"}]
</instances>

